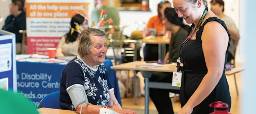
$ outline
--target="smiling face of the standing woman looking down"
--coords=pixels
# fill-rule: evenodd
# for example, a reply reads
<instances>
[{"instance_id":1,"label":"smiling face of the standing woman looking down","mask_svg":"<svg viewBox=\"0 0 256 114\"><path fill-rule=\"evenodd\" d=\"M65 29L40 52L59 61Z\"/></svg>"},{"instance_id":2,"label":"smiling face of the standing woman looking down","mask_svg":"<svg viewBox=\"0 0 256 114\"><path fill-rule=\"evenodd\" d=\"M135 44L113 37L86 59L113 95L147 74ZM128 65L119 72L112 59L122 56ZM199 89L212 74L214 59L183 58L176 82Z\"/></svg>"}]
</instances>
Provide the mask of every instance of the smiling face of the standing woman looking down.
<instances>
[{"instance_id":1,"label":"smiling face of the standing woman looking down","mask_svg":"<svg viewBox=\"0 0 256 114\"><path fill-rule=\"evenodd\" d=\"M179 17L183 17L187 23L194 23L198 19L196 4L191 4L187 0L173 0L173 7Z\"/></svg>"}]
</instances>

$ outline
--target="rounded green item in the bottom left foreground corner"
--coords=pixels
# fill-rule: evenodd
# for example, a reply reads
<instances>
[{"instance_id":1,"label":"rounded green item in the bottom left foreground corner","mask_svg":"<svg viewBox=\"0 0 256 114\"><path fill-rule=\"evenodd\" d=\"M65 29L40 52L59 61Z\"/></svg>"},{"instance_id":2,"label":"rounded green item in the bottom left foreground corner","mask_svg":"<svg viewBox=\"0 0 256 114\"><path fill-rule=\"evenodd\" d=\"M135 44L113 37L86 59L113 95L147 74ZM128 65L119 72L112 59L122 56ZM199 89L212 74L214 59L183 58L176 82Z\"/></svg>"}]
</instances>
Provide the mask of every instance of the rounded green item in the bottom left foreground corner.
<instances>
[{"instance_id":1,"label":"rounded green item in the bottom left foreground corner","mask_svg":"<svg viewBox=\"0 0 256 114\"><path fill-rule=\"evenodd\" d=\"M39 114L32 103L20 94L0 89L1 114Z\"/></svg>"}]
</instances>

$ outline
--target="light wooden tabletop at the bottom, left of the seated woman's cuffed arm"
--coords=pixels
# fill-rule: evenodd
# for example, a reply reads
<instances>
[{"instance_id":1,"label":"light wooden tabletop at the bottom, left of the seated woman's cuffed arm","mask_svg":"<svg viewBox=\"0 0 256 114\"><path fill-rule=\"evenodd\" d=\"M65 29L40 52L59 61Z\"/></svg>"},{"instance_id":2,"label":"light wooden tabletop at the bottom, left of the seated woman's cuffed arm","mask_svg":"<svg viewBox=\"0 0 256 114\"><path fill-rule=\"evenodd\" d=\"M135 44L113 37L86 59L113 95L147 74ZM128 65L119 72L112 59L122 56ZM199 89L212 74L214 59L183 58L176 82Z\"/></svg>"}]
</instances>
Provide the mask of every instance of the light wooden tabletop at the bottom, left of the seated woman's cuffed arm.
<instances>
[{"instance_id":1,"label":"light wooden tabletop at the bottom, left of the seated woman's cuffed arm","mask_svg":"<svg viewBox=\"0 0 256 114\"><path fill-rule=\"evenodd\" d=\"M41 114L77 114L74 111L69 110L59 110L59 109L49 109L49 108L40 108L38 111Z\"/></svg>"}]
</instances>

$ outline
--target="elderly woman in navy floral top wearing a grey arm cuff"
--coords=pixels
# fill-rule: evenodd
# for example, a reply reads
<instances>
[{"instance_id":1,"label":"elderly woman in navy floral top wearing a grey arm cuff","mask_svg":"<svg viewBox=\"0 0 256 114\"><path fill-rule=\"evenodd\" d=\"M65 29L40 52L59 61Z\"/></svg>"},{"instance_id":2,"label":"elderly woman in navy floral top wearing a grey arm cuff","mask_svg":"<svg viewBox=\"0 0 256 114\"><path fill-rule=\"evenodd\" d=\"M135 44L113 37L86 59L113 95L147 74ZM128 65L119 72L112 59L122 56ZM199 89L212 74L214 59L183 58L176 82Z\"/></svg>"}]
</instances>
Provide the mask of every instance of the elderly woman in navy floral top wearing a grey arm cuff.
<instances>
[{"instance_id":1,"label":"elderly woman in navy floral top wearing a grey arm cuff","mask_svg":"<svg viewBox=\"0 0 256 114\"><path fill-rule=\"evenodd\" d=\"M78 56L64 68L60 78L60 107L82 114L99 114L100 109L136 114L122 109L103 64L107 52L106 34L89 28L79 37Z\"/></svg>"}]
</instances>

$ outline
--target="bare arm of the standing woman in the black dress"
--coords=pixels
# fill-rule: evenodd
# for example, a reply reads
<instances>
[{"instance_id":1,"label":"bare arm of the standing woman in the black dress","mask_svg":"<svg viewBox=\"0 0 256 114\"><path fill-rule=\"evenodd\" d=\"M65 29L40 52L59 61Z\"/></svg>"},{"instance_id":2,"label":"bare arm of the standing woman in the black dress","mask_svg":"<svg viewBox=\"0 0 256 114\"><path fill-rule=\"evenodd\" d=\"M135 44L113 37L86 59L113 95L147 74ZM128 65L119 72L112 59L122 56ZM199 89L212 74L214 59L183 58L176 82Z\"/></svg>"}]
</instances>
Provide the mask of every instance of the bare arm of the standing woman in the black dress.
<instances>
[{"instance_id":1,"label":"bare arm of the standing woman in the black dress","mask_svg":"<svg viewBox=\"0 0 256 114\"><path fill-rule=\"evenodd\" d=\"M194 108L216 87L223 74L228 45L228 34L218 22L208 22L202 33L202 49L208 73L185 106Z\"/></svg>"}]
</instances>

